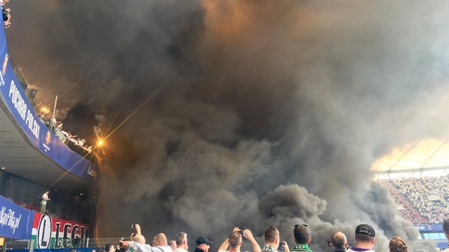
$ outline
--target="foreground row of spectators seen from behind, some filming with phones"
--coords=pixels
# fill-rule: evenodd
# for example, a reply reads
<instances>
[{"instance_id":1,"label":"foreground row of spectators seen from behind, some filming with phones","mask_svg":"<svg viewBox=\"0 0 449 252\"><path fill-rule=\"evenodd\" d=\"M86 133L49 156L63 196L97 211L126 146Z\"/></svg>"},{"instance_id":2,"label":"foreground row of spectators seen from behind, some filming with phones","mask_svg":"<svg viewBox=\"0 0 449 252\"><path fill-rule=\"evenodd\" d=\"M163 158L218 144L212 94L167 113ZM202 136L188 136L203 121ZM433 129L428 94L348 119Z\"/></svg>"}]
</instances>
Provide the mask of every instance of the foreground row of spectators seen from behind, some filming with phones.
<instances>
[{"instance_id":1,"label":"foreground row of spectators seen from behind, some filming with phones","mask_svg":"<svg viewBox=\"0 0 449 252\"><path fill-rule=\"evenodd\" d=\"M138 224L133 225L137 234L131 234L129 239L121 239L119 244L106 244L104 248L100 248L99 252L188 252L189 242L188 236L185 232L177 233L175 240L168 242L166 234L156 234L152 242L145 241L145 237L140 232ZM443 222L443 230L446 237L449 239L449 219ZM375 252L375 237L376 232L371 225L360 224L356 227L355 232L351 232L351 236L355 235L354 244L348 244L347 236L343 232L335 232L328 246L333 247L333 252ZM309 244L313 244L311 237L311 228L307 225L295 225L293 232L290 234L282 234L283 237L292 237L295 244L289 244L286 241L281 241L281 234L276 227L269 226L265 229L262 244L258 244L252 232L248 229L241 230L239 227L234 227L234 230L229 234L220 247L215 250L217 252L241 252L243 242L249 242L252 249L250 252L313 252ZM318 241L320 242L320 241ZM190 251L194 252L211 252L211 245L214 244L207 237L199 237L195 241L194 248ZM262 246L260 246L262 245ZM384 245L383 245L384 246ZM380 251L389 252L408 252L408 245L401 237L393 237L389 241L388 247L379 248ZM320 251L323 251L322 249ZM330 251L326 250L326 251ZM94 251L92 251L94 252ZM95 251L96 252L96 251Z\"/></svg>"}]
</instances>

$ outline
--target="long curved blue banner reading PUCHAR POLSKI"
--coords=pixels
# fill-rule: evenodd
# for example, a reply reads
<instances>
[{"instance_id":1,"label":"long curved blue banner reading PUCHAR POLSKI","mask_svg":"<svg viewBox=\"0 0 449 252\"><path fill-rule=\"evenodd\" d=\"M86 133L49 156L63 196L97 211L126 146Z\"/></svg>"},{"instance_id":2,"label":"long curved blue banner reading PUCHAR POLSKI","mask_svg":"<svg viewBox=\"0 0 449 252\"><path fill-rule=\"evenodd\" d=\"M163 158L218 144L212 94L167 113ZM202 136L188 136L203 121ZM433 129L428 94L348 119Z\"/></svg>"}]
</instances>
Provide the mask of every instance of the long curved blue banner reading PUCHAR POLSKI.
<instances>
[{"instance_id":1,"label":"long curved blue banner reading PUCHAR POLSKI","mask_svg":"<svg viewBox=\"0 0 449 252\"><path fill-rule=\"evenodd\" d=\"M70 150L53 132L36 116L25 91L15 77L9 62L5 29L0 28L0 98L32 145L43 154L53 159L65 170L88 181L97 178L97 166ZM0 61L1 62L1 61Z\"/></svg>"}]
</instances>

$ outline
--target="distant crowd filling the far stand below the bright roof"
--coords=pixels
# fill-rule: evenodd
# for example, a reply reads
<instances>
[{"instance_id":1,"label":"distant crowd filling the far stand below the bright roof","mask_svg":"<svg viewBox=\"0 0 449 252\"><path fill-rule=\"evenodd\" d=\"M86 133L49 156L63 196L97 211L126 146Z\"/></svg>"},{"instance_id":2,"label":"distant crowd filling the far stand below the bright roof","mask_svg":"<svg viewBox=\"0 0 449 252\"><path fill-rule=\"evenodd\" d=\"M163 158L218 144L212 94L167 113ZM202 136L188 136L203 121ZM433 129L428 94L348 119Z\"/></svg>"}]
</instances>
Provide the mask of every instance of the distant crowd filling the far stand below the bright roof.
<instances>
[{"instance_id":1,"label":"distant crowd filling the far stand below the bright roof","mask_svg":"<svg viewBox=\"0 0 449 252\"><path fill-rule=\"evenodd\" d=\"M403 209L400 211L403 218L413 224L441 224L449 215L449 175L392 178L380 183L387 186L396 204Z\"/></svg>"}]
</instances>

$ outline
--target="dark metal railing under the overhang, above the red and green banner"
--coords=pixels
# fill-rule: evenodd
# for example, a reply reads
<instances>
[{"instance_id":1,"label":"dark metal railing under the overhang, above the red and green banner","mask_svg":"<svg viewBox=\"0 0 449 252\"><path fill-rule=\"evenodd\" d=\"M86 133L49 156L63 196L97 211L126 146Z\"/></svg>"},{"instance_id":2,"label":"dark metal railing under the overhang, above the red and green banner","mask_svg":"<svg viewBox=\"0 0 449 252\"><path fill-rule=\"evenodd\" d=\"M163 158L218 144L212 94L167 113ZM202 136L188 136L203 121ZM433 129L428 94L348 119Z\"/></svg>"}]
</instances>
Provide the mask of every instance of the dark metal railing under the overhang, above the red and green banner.
<instances>
[{"instance_id":1,"label":"dark metal railing under the overhang, above the red and green banner","mask_svg":"<svg viewBox=\"0 0 449 252\"><path fill-rule=\"evenodd\" d=\"M41 207L41 196L36 196L29 194L20 190L19 187L15 186L11 181L6 182L5 198L10 199L15 204L27 208L33 211L40 211ZM51 201L47 201L46 205L46 215L50 215L55 218L60 218L63 220L72 220L77 223L83 222L82 211L76 211L73 208L68 208L55 204Z\"/></svg>"}]
</instances>

